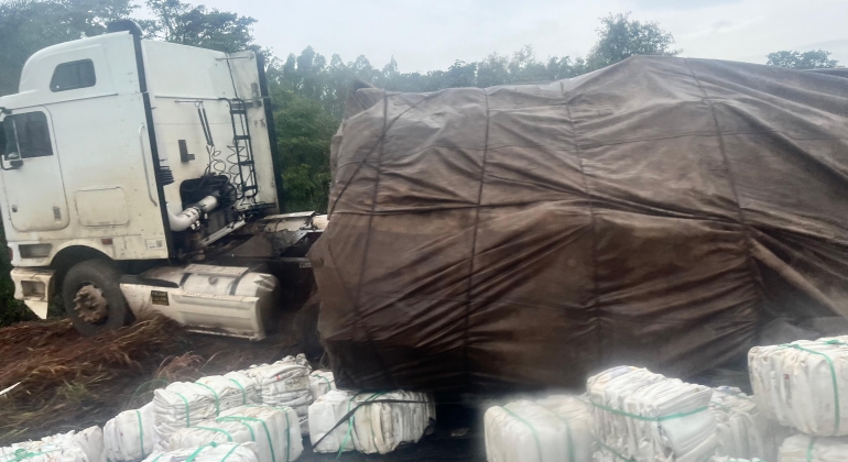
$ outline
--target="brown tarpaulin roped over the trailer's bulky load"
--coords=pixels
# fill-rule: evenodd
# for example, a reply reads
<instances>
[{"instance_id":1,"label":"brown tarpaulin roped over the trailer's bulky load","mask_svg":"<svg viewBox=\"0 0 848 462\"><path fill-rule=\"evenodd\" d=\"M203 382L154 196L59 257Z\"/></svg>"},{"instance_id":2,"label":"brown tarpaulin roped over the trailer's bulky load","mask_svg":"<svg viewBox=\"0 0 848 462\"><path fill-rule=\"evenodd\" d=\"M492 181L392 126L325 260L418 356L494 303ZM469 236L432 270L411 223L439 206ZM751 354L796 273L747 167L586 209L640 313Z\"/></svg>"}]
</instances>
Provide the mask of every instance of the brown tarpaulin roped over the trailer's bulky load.
<instances>
[{"instance_id":1,"label":"brown tarpaulin roped over the trailer's bulky load","mask_svg":"<svg viewBox=\"0 0 848 462\"><path fill-rule=\"evenodd\" d=\"M848 316L848 80L632 57L568 80L361 89L311 258L343 386L691 376L775 316Z\"/></svg>"}]
</instances>

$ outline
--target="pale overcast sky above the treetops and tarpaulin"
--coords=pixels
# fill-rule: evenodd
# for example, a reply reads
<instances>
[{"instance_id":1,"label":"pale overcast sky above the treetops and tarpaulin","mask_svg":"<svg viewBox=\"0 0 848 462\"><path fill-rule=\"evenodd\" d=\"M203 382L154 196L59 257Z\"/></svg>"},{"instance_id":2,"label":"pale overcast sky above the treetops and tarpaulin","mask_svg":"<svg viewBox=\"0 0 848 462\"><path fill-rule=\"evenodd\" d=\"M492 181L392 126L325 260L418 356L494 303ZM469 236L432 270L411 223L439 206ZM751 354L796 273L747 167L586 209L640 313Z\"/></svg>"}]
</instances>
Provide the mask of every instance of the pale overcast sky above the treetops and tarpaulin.
<instances>
[{"instance_id":1,"label":"pale overcast sky above the treetops and tarpaulin","mask_svg":"<svg viewBox=\"0 0 848 462\"><path fill-rule=\"evenodd\" d=\"M445 69L533 45L536 56L585 55L598 18L632 12L671 32L683 56L764 63L779 50L825 48L848 65L846 0L189 0L256 18L259 44L284 57L312 45L329 58L366 55L400 70Z\"/></svg>"}]
</instances>

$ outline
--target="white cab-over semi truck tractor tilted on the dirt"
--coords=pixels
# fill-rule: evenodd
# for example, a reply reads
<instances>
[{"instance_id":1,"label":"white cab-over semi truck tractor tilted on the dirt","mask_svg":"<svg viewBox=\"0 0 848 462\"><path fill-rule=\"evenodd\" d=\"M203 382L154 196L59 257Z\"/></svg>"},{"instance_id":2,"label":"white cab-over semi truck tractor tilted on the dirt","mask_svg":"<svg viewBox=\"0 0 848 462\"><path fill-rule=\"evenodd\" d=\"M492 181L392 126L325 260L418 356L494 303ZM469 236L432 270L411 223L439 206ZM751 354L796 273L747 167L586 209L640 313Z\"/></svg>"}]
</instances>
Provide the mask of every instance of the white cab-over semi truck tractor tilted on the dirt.
<instances>
[{"instance_id":1,"label":"white cab-over semi truck tractor tilted on the dirt","mask_svg":"<svg viewBox=\"0 0 848 462\"><path fill-rule=\"evenodd\" d=\"M264 338L313 285L326 217L281 213L263 58L142 38L132 21L50 46L0 98L14 296L97 334L162 314Z\"/></svg>"}]
</instances>

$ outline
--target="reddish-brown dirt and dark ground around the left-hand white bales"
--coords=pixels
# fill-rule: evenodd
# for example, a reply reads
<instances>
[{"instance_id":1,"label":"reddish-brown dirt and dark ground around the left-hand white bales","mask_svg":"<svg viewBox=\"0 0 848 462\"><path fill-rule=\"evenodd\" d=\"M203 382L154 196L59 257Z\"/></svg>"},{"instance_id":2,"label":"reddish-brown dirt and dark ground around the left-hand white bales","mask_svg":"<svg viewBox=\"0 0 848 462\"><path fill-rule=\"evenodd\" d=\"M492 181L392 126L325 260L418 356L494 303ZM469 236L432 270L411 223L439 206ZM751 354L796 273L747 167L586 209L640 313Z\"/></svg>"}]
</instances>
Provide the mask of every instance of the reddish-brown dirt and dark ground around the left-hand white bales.
<instances>
[{"instance_id":1,"label":"reddish-brown dirt and dark ground around the left-hand white bales","mask_svg":"<svg viewBox=\"0 0 848 462\"><path fill-rule=\"evenodd\" d=\"M281 323L294 326L291 316ZM0 329L0 446L61 431L102 426L124 409L152 398L168 382L194 381L276 361L302 348L291 329L261 342L187 332L165 318L115 333L86 338L63 319ZM317 363L318 358L312 358ZM317 365L317 364L315 364ZM432 435L388 455L345 453L347 461L483 461L479 414L443 404ZM308 438L304 448L308 448ZM300 460L330 461L336 454L306 449Z\"/></svg>"}]
</instances>

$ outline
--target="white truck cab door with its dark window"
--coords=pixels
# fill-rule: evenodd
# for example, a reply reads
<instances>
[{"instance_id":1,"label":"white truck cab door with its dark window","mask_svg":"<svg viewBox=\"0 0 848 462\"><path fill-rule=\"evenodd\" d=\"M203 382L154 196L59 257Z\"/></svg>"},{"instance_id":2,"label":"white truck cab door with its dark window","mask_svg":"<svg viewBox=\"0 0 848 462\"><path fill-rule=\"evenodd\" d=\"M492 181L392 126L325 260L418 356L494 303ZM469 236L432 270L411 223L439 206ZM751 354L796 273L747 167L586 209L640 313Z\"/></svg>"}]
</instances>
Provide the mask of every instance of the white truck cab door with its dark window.
<instances>
[{"instance_id":1,"label":"white truck cab door with its dark window","mask_svg":"<svg viewBox=\"0 0 848 462\"><path fill-rule=\"evenodd\" d=\"M67 200L53 127L43 107L15 110L2 121L2 178L8 213L18 231L61 230Z\"/></svg>"}]
</instances>

